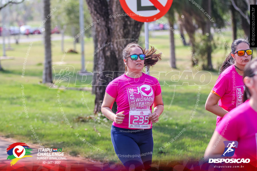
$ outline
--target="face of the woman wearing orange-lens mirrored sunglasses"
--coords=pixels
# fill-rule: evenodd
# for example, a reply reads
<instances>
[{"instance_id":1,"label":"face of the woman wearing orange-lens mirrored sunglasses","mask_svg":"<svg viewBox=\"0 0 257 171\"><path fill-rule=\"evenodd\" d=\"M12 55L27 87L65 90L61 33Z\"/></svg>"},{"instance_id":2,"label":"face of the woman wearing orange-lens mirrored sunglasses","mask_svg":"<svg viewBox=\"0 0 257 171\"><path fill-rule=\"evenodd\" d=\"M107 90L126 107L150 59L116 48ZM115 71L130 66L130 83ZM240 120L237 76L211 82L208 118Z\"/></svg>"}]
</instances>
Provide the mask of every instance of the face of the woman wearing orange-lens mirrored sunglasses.
<instances>
[{"instance_id":1,"label":"face of the woman wearing orange-lens mirrored sunglasses","mask_svg":"<svg viewBox=\"0 0 257 171\"><path fill-rule=\"evenodd\" d=\"M250 49L249 45L246 43L240 43L236 47L236 51L241 51L241 50L247 50ZM245 52L243 56L238 56L237 53L231 54L232 57L235 59L235 65L243 65L245 66L248 62L250 62L252 55L247 55Z\"/></svg>"}]
</instances>

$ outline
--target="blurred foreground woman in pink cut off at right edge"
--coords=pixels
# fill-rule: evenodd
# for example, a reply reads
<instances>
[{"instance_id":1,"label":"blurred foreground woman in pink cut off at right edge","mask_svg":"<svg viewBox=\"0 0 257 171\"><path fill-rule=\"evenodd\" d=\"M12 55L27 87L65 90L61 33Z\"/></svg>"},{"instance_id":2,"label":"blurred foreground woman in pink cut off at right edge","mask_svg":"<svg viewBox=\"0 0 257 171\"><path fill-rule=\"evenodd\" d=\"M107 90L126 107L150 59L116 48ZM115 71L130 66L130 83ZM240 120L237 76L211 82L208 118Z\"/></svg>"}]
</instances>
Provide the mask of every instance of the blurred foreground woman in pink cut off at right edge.
<instances>
[{"instance_id":1,"label":"blurred foreground woman in pink cut off at right edge","mask_svg":"<svg viewBox=\"0 0 257 171\"><path fill-rule=\"evenodd\" d=\"M224 116L210 139L205 156L209 158L232 156L233 154L230 155L230 152L224 150L227 145L223 144L224 141L231 141L230 143L234 142L233 146L236 148L232 158L249 158L251 163L256 165L257 58L245 66L243 81L244 103Z\"/></svg>"}]
</instances>

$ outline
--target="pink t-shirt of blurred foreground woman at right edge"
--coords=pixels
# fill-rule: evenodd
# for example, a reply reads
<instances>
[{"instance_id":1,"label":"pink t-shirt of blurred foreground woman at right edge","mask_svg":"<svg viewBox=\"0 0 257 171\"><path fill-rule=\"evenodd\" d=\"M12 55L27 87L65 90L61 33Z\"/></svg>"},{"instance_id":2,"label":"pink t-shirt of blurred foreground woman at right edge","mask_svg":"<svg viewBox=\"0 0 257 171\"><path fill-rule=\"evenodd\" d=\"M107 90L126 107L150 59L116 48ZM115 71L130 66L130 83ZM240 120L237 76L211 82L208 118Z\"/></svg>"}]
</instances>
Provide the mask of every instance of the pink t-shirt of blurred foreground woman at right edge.
<instances>
[{"instance_id":1,"label":"pink t-shirt of blurred foreground woman at right edge","mask_svg":"<svg viewBox=\"0 0 257 171\"><path fill-rule=\"evenodd\" d=\"M216 131L229 141L238 141L232 158L257 158L257 112L250 106L249 100L227 113ZM222 142L220 142L222 143Z\"/></svg>"}]
</instances>

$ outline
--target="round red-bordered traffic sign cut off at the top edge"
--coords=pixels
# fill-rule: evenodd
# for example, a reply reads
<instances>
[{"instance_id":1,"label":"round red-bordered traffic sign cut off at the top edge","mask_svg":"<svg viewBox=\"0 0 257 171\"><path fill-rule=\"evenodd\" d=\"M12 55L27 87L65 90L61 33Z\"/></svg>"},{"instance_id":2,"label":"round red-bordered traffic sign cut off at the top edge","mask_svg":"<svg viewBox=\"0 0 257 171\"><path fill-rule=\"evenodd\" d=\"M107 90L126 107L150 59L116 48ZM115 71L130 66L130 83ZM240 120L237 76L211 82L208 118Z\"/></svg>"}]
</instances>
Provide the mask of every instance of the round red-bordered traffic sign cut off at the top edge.
<instances>
[{"instance_id":1,"label":"round red-bordered traffic sign cut off at the top edge","mask_svg":"<svg viewBox=\"0 0 257 171\"><path fill-rule=\"evenodd\" d=\"M152 22L165 15L173 0L120 0L125 13L139 22Z\"/></svg>"}]
</instances>

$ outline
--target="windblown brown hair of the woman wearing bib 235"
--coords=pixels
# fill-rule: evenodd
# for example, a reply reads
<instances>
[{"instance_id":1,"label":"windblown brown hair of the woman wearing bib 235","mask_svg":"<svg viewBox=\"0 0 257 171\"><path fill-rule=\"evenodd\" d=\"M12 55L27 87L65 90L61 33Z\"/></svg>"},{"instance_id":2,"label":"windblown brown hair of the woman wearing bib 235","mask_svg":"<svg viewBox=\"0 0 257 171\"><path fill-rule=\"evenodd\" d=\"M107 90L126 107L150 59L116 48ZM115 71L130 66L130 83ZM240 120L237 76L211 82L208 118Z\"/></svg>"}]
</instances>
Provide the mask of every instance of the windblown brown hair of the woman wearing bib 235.
<instances>
[{"instance_id":1,"label":"windblown brown hair of the woman wearing bib 235","mask_svg":"<svg viewBox=\"0 0 257 171\"><path fill-rule=\"evenodd\" d=\"M150 66L154 66L159 60L161 60L162 53L155 54L156 49L154 49L153 46L151 46L150 49L143 49L141 46L139 46L139 44L132 42L127 44L127 46L122 51L123 59L126 59L126 61L128 60L127 57L129 56L128 54L130 53L130 49L132 47L139 47L142 50L143 54L145 54L144 67L146 67L147 69L149 69ZM127 65L125 65L125 72L127 71Z\"/></svg>"}]
</instances>

